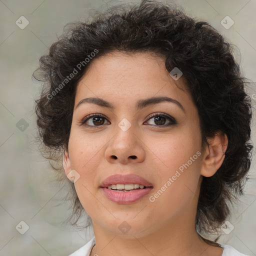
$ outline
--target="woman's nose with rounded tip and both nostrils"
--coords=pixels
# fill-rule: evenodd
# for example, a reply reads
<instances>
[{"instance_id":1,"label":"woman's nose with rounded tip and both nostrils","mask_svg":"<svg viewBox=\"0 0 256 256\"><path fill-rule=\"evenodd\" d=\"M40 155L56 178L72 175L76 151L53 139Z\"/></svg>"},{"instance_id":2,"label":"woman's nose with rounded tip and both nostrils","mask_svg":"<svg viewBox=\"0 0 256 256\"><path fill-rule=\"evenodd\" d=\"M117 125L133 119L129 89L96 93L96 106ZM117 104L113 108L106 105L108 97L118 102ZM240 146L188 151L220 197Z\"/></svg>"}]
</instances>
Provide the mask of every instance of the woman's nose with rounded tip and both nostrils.
<instances>
[{"instance_id":1,"label":"woman's nose with rounded tip and both nostrils","mask_svg":"<svg viewBox=\"0 0 256 256\"><path fill-rule=\"evenodd\" d=\"M139 138L139 134L136 133L132 125L127 130L117 126L105 150L107 161L122 164L143 161L145 144Z\"/></svg>"}]
</instances>

